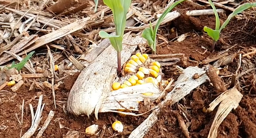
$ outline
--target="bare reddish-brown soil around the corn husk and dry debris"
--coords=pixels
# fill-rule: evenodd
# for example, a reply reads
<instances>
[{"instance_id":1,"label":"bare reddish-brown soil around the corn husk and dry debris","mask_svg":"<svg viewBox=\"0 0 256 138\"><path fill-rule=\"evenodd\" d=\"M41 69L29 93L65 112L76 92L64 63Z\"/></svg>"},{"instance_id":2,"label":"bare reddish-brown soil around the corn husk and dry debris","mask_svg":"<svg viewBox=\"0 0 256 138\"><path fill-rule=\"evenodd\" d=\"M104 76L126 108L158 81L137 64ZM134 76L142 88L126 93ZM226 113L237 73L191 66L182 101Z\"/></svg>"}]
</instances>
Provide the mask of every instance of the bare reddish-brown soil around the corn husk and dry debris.
<instances>
[{"instance_id":1,"label":"bare reddish-brown soil around the corn husk and dry debris","mask_svg":"<svg viewBox=\"0 0 256 138\"><path fill-rule=\"evenodd\" d=\"M168 41L176 37L176 32L166 35L166 32L163 31L164 29L170 30L175 27L178 36L188 32L193 32L195 34L189 35L182 42L170 41L169 44L157 46L157 54L184 53L190 60L188 61L187 66L201 66L198 64L199 62L215 57L218 52L226 50L226 46L229 48L234 46L229 50L229 53L234 53L242 47L255 47L256 45L255 32L253 32L253 28L255 28L256 24L253 21L249 21L245 25L244 20L233 19L222 32L221 39L223 41L217 46L215 52L211 53L209 51L212 40L203 32L203 27L207 26L214 28L215 17L210 15L196 17L186 16L184 13L187 10L204 9L203 7L189 3L189 1L185 1L182 5L178 5L177 8L181 10L182 15L170 23L169 26L160 28L160 34L166 36ZM226 17L227 16L225 15L220 16L222 21L225 21ZM252 32L252 35L248 35L248 33L244 32ZM208 50L206 51L206 49ZM255 64L255 58L254 61L251 61ZM181 63L179 63L179 65L181 65L182 68L187 67ZM233 63L228 65L228 71L235 74L237 65L238 60L236 58ZM174 68L174 66L166 68ZM241 71L243 71L242 68L240 68L240 72ZM55 92L56 100L67 101L69 91L78 77L78 74L79 73L64 79L64 83L59 86L60 89ZM177 79L178 74L173 73L166 77L173 77L174 79ZM247 80L240 81L240 85L242 87L240 92L244 96L242 97L238 108L232 110L221 123L218 129L217 138L256 138L255 75L252 73L251 76L246 79ZM223 78L223 81L225 84L228 84L230 80ZM100 129L102 129L103 126L106 126L105 134L102 138L127 138L131 131L140 125L150 114L148 113L140 117L133 117L129 115L120 116L116 113L100 113L99 120L95 119L93 116L90 118L86 116L75 117L74 115L66 114L64 112L63 104L61 102L57 102L57 108L55 109L51 90L45 90L44 92L39 89L29 91L29 88L29 85L24 85L17 93L13 93L11 89L7 87L0 91L0 125L7 126L5 130L0 130L0 138L19 138L20 135L23 135L29 129L31 126L29 103L33 105L33 109L35 111L38 103L38 97L35 99L33 99L33 97L37 96L38 93L43 94L43 103L45 103L39 127L42 127L44 124L49 111L55 111L52 121L43 134L43 137L46 138L62 138L63 135L67 134L69 129L85 132L86 127L93 124L98 124ZM178 103L183 105L187 110L186 115L189 122L183 116L182 117L186 124L190 124L188 131L191 138L208 137L217 108L211 113L206 113L205 109L208 108L208 105L215 100L219 94L221 93L217 92L210 82L206 82L199 88L192 90L190 94L185 96L185 98ZM19 125L15 114L18 115L20 120L23 100L25 100L23 125ZM143 102L140 106L141 109L139 112L142 113L145 110ZM180 113L177 104L163 108L158 116L157 123L155 123L144 138L185 138L176 118L177 113ZM112 130L111 125L114 122L114 119L118 119L123 123L123 133L116 133ZM66 128L60 129L60 124ZM32 138L35 138L37 133L38 131L35 132ZM82 138L95 137L84 133L81 135Z\"/></svg>"}]
</instances>

